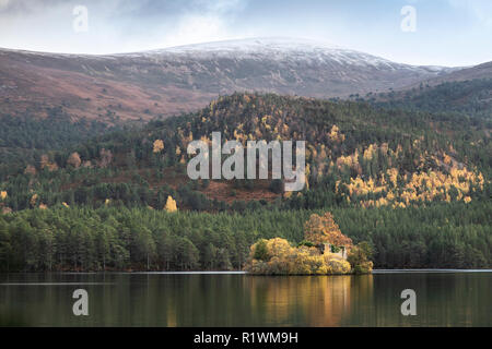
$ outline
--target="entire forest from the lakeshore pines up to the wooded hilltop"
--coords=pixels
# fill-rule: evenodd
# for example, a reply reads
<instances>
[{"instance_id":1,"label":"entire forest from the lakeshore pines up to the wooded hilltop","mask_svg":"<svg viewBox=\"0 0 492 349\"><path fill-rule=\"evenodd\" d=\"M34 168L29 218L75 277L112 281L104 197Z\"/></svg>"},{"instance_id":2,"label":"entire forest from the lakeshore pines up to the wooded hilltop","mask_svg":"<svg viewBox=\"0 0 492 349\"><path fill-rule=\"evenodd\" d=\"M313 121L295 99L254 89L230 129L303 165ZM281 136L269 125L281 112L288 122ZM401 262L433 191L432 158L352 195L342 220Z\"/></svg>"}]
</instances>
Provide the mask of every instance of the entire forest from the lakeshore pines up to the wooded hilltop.
<instances>
[{"instance_id":1,"label":"entire forest from the lakeshore pines up to the wooded hilltop","mask_svg":"<svg viewBox=\"0 0 492 349\"><path fill-rule=\"evenodd\" d=\"M327 210L372 243L376 268L491 267L492 111L483 96L470 113L433 96L481 84L399 104L242 93L131 129L1 119L0 268L239 269L258 239L298 243L309 214ZM305 140L306 188L189 180L187 145L215 131Z\"/></svg>"}]
</instances>

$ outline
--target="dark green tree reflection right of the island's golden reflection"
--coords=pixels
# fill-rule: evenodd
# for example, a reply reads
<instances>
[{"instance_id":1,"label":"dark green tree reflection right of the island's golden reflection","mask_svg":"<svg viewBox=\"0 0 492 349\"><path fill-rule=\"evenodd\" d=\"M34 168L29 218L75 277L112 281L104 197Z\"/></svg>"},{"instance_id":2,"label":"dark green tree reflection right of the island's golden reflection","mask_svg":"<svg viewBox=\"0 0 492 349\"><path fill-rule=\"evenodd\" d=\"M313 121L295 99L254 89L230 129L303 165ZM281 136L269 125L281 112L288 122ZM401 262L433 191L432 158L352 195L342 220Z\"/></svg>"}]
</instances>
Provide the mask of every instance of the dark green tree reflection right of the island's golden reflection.
<instances>
[{"instance_id":1,"label":"dark green tree reflection right of the island's golden reflection","mask_svg":"<svg viewBox=\"0 0 492 349\"><path fill-rule=\"evenodd\" d=\"M361 279L362 282L364 279ZM490 274L403 273L372 276L372 294L352 287L352 311L341 325L483 326L491 325ZM489 287L488 287L489 285ZM417 293L417 316L402 316L401 291ZM355 292L360 292L359 297Z\"/></svg>"}]
</instances>

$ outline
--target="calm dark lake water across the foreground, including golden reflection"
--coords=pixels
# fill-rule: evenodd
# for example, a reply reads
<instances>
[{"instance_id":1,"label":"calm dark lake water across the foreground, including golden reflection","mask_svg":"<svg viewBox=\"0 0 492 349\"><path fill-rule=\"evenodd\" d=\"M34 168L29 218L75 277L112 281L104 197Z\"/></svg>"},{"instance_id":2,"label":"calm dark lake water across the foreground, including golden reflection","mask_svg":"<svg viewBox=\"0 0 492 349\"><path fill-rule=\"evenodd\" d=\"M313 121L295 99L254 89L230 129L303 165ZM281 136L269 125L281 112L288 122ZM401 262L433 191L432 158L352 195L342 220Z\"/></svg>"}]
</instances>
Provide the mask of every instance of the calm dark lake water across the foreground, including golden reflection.
<instances>
[{"instance_id":1,"label":"calm dark lake water across the foreground, including golden reflection","mask_svg":"<svg viewBox=\"0 0 492 349\"><path fill-rule=\"evenodd\" d=\"M72 293L89 292L89 316ZM403 289L417 316L402 316ZM492 273L377 273L262 277L243 274L3 274L9 326L492 326Z\"/></svg>"}]
</instances>

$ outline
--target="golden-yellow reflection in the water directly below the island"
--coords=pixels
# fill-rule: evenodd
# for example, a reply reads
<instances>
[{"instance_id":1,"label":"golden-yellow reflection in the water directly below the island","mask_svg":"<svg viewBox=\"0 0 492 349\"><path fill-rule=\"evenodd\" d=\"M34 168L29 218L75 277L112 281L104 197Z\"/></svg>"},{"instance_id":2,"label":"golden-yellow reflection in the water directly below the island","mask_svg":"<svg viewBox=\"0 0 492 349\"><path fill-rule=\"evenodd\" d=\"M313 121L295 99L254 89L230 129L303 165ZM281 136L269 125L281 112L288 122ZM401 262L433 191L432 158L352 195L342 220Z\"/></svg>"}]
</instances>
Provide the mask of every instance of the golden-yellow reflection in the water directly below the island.
<instances>
[{"instance_id":1,"label":"golden-yellow reflection in the water directly below the island","mask_svg":"<svg viewBox=\"0 0 492 349\"><path fill-rule=\"evenodd\" d=\"M339 326L372 294L372 275L251 277L251 305L270 325Z\"/></svg>"}]
</instances>

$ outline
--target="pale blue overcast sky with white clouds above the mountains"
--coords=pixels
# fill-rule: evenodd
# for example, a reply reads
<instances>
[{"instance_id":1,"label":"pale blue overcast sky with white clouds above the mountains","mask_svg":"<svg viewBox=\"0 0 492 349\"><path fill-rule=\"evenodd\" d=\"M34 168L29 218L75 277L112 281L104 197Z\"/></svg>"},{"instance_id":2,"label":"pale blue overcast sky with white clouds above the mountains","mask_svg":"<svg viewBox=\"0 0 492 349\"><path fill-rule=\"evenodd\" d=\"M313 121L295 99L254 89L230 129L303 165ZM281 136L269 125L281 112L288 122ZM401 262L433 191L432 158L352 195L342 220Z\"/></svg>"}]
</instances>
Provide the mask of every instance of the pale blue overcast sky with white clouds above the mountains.
<instances>
[{"instance_id":1,"label":"pale blue overcast sky with white clouds above the mountains","mask_svg":"<svg viewBox=\"0 0 492 349\"><path fill-rule=\"evenodd\" d=\"M87 32L77 5L87 9ZM401 29L415 9L415 32ZM405 22L408 24L410 22ZM492 61L491 0L0 0L0 47L116 53L247 37L329 41L412 64Z\"/></svg>"}]
</instances>

